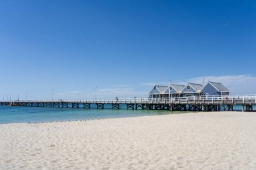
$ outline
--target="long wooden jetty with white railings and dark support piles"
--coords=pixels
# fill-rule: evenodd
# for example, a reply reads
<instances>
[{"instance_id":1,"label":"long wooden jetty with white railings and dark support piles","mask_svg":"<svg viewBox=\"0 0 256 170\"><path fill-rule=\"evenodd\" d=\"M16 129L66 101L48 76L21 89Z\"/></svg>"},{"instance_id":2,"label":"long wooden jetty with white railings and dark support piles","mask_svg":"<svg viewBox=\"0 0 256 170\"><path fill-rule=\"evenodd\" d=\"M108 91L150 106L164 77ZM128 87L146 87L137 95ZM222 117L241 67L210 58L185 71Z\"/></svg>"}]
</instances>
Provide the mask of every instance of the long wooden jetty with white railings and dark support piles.
<instances>
[{"instance_id":1,"label":"long wooden jetty with white railings and dark support piles","mask_svg":"<svg viewBox=\"0 0 256 170\"><path fill-rule=\"evenodd\" d=\"M256 95L232 95L229 97L199 96L174 98L136 98L136 99L55 99L55 100L20 100L0 101L0 105L46 107L46 108L107 108L131 110L172 110L172 111L221 111L234 110L234 105L241 105L244 112L253 111ZM125 107L121 107L125 105Z\"/></svg>"}]
</instances>

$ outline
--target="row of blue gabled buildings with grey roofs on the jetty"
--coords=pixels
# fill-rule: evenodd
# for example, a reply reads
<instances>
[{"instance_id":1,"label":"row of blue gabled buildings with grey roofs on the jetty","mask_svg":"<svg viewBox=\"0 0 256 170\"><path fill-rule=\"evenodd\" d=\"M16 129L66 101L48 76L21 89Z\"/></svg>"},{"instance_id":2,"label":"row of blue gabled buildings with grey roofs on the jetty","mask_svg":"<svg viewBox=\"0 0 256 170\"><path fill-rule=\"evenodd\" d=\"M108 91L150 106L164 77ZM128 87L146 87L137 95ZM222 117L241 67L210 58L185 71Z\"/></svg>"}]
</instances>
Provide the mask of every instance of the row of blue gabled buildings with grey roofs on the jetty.
<instances>
[{"instance_id":1,"label":"row of blue gabled buildings with grey roofs on the jetty","mask_svg":"<svg viewBox=\"0 0 256 170\"><path fill-rule=\"evenodd\" d=\"M209 81L205 86L197 83L187 85L170 84L155 85L149 93L149 98L190 97L201 95L229 96L230 90L222 83Z\"/></svg>"}]
</instances>

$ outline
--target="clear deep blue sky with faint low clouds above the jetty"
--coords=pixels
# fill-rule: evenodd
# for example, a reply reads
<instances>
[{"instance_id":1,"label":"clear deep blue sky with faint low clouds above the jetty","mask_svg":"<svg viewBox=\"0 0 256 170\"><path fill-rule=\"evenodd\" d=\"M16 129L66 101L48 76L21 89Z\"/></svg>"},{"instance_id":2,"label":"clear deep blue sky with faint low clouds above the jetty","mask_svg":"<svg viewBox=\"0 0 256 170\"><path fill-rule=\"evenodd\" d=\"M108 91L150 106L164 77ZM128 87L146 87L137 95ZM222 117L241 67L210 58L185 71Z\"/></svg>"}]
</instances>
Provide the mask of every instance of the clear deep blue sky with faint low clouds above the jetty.
<instances>
[{"instance_id":1,"label":"clear deep blue sky with faint low clouds above the jetty","mask_svg":"<svg viewBox=\"0 0 256 170\"><path fill-rule=\"evenodd\" d=\"M0 99L256 94L256 1L0 1Z\"/></svg>"}]
</instances>

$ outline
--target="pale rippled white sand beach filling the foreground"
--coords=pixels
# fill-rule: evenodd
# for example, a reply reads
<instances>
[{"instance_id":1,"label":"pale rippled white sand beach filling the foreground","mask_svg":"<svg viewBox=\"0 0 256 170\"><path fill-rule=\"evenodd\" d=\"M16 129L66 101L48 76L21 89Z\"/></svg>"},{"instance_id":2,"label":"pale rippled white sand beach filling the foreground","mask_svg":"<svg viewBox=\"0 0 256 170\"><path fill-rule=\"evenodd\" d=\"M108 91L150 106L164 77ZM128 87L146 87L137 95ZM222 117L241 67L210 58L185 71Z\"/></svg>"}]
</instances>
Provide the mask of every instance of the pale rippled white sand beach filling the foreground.
<instances>
[{"instance_id":1,"label":"pale rippled white sand beach filling the foreground","mask_svg":"<svg viewBox=\"0 0 256 170\"><path fill-rule=\"evenodd\" d=\"M256 113L0 125L0 169L256 169Z\"/></svg>"}]
</instances>

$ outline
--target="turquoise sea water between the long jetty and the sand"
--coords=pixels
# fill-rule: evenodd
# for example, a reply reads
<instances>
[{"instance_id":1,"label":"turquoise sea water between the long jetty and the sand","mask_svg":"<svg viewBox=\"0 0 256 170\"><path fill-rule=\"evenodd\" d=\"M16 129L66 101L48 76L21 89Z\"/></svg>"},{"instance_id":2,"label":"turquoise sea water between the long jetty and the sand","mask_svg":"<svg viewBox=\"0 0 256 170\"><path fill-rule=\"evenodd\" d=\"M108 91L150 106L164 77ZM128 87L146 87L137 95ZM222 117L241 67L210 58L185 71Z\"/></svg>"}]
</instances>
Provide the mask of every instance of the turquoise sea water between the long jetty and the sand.
<instances>
[{"instance_id":1,"label":"turquoise sea water between the long jetty and the sand","mask_svg":"<svg viewBox=\"0 0 256 170\"><path fill-rule=\"evenodd\" d=\"M83 108L30 108L0 106L0 124L20 122L54 122L81 119L125 118L159 114L180 114L184 112L153 110L112 110Z\"/></svg>"}]
</instances>

